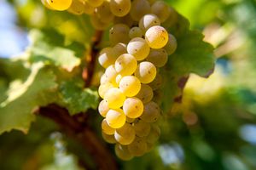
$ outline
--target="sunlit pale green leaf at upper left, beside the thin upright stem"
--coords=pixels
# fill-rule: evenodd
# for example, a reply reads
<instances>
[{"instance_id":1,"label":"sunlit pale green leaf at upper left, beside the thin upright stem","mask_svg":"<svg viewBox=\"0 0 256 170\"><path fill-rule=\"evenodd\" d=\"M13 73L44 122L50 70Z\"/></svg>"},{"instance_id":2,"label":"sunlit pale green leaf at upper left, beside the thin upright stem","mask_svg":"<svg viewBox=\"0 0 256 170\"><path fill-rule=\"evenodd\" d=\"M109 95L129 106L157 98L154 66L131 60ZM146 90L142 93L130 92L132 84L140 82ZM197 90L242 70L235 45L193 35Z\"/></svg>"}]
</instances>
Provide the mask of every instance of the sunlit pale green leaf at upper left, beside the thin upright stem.
<instances>
[{"instance_id":1,"label":"sunlit pale green leaf at upper left, beside the thin upright stem","mask_svg":"<svg viewBox=\"0 0 256 170\"><path fill-rule=\"evenodd\" d=\"M55 31L32 30L29 37L32 43L28 52L32 62L43 61L46 65L55 65L67 71L73 71L80 65L83 45L77 42L65 45L64 37Z\"/></svg>"}]
</instances>

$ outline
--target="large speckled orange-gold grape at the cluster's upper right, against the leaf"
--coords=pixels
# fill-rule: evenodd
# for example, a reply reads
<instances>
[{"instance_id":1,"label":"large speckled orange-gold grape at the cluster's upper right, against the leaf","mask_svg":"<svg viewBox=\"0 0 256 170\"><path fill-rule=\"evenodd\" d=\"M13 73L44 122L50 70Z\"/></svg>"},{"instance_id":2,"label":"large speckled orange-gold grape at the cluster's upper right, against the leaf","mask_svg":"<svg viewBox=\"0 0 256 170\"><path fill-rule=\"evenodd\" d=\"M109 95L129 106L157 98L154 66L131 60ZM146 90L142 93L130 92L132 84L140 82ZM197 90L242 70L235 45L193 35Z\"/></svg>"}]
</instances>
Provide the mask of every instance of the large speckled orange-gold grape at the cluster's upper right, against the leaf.
<instances>
[{"instance_id":1,"label":"large speckled orange-gold grape at the cluster's upper right, against the leaf","mask_svg":"<svg viewBox=\"0 0 256 170\"><path fill-rule=\"evenodd\" d=\"M162 26L152 26L146 31L145 40L150 48L163 48L168 42L168 32Z\"/></svg>"}]
</instances>

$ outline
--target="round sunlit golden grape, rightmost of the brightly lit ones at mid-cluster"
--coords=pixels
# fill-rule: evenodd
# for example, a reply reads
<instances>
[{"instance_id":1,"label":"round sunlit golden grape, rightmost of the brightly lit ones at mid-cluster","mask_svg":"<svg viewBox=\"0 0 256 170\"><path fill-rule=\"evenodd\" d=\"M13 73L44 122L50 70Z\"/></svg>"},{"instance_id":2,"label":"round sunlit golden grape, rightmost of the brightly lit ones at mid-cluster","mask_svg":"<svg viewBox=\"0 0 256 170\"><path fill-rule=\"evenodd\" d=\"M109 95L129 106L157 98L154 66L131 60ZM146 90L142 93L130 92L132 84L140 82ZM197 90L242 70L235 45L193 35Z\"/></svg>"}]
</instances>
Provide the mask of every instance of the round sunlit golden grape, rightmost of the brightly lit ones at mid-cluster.
<instances>
[{"instance_id":1,"label":"round sunlit golden grape, rightmost of the brightly lit ones at mid-cluster","mask_svg":"<svg viewBox=\"0 0 256 170\"><path fill-rule=\"evenodd\" d=\"M154 80L154 77L156 76L156 68L152 63L143 61L137 65L137 70L135 71L134 75L142 83L147 84Z\"/></svg>"}]
</instances>

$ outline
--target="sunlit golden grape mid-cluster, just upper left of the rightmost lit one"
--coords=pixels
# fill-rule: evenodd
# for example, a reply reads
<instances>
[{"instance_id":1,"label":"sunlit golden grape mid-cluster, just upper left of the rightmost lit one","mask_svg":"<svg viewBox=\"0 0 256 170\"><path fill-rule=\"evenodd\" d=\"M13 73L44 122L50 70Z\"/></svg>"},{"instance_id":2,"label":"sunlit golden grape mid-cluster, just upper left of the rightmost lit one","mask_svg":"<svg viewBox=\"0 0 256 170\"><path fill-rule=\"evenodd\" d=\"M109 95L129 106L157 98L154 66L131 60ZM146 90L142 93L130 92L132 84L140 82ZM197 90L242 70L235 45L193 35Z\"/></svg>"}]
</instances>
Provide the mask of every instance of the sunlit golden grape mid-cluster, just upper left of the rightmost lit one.
<instances>
[{"instance_id":1,"label":"sunlit golden grape mid-cluster, just upper left of the rightmost lit one","mask_svg":"<svg viewBox=\"0 0 256 170\"><path fill-rule=\"evenodd\" d=\"M122 76L129 76L137 69L137 60L131 54L122 54L115 61L115 69Z\"/></svg>"}]
</instances>

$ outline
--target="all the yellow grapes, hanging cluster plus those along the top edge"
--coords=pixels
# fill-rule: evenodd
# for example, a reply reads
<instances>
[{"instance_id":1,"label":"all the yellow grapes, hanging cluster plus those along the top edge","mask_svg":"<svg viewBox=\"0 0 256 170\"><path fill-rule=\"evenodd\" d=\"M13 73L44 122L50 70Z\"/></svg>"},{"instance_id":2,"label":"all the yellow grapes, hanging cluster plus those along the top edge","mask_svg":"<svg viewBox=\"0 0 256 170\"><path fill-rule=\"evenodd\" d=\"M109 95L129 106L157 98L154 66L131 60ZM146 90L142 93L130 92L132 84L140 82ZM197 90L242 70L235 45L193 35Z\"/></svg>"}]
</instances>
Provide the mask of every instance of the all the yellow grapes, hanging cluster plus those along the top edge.
<instances>
[{"instance_id":1,"label":"all the yellow grapes, hanging cluster plus those along the top edge","mask_svg":"<svg viewBox=\"0 0 256 170\"><path fill-rule=\"evenodd\" d=\"M110 47L99 54L105 68L98 93L102 137L122 160L143 156L160 137L160 67L177 48L166 29L176 11L161 0L42 0L54 10L90 14L96 30L109 30Z\"/></svg>"}]
</instances>

